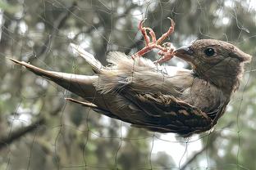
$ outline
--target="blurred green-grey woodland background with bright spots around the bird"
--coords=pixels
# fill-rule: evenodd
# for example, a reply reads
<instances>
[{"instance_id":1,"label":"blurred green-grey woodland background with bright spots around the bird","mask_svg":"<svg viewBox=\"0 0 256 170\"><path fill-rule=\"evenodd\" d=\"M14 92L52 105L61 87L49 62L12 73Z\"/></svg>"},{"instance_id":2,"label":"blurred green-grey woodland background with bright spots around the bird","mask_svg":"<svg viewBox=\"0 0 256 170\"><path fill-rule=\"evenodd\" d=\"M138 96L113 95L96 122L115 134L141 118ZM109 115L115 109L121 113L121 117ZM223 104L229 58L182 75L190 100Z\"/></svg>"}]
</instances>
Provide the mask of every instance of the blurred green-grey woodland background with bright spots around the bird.
<instances>
[{"instance_id":1,"label":"blurred green-grey woodland background with bright spots around the bird","mask_svg":"<svg viewBox=\"0 0 256 170\"><path fill-rule=\"evenodd\" d=\"M157 37L171 17L175 47L200 38L231 42L256 54L256 2L232 0L0 0L0 170L2 169L255 169L255 59L212 132L182 138L65 101L62 87L14 65L93 74L71 51L80 44L107 65L108 51L144 47L139 21ZM158 59L155 51L145 57ZM169 65L188 68L174 58Z\"/></svg>"}]
</instances>

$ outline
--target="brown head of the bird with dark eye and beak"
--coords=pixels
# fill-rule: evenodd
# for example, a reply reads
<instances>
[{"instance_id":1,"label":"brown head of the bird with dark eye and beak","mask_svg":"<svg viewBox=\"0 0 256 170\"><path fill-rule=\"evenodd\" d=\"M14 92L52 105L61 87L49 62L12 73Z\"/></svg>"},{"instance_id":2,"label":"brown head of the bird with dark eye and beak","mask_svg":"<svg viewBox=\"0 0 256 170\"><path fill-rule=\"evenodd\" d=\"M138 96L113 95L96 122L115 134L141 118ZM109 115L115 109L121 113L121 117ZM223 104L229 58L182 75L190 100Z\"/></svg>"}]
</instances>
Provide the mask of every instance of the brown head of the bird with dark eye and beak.
<instances>
[{"instance_id":1,"label":"brown head of the bird with dark eye and beak","mask_svg":"<svg viewBox=\"0 0 256 170\"><path fill-rule=\"evenodd\" d=\"M201 39L175 51L175 56L187 61L199 77L223 89L234 92L244 72L244 63L251 56L231 43Z\"/></svg>"}]
</instances>

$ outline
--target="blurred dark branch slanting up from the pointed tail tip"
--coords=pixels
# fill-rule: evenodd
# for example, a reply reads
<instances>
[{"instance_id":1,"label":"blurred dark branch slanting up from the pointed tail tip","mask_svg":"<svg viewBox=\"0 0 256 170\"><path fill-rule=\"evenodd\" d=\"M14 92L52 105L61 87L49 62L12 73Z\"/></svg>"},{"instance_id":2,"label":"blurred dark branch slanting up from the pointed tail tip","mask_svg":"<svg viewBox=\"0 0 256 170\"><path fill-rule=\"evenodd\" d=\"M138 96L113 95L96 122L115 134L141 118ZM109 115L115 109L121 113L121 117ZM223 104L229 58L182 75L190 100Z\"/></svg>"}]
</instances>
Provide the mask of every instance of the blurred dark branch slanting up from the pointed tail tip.
<instances>
[{"instance_id":1,"label":"blurred dark branch slanting up from the pointed tail tip","mask_svg":"<svg viewBox=\"0 0 256 170\"><path fill-rule=\"evenodd\" d=\"M58 33L59 29L62 28L63 25L65 25L66 20L69 16L71 16L71 13L77 9L77 3L73 2L71 7L69 7L65 12L63 12L60 16L57 17L57 20L54 20L53 23L53 29L51 33L49 33L48 38L43 42L43 46L39 48L39 50L36 52L36 56L42 56L45 54L48 49L51 46L51 42L53 41L53 38ZM33 60L36 59L36 57L30 56L30 59L28 62L33 62Z\"/></svg>"}]
</instances>

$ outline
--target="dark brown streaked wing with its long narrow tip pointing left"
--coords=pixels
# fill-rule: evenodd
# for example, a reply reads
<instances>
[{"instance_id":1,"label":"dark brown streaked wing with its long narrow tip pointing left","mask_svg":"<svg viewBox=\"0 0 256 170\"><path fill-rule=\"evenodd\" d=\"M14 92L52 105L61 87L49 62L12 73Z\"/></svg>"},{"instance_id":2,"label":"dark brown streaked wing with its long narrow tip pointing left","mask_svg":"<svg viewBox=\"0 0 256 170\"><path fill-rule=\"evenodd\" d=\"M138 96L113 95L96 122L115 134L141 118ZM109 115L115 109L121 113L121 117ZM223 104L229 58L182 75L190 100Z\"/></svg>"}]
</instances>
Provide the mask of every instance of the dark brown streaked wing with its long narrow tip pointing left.
<instances>
[{"instance_id":1,"label":"dark brown streaked wing with its long narrow tip pointing left","mask_svg":"<svg viewBox=\"0 0 256 170\"><path fill-rule=\"evenodd\" d=\"M87 101L72 101L89 107L101 114L120 119L137 128L146 128L153 132L175 132L181 136L205 132L213 128L213 120L207 114L172 96L159 94L123 94L126 105L104 110ZM118 109L117 109L118 108Z\"/></svg>"}]
</instances>

